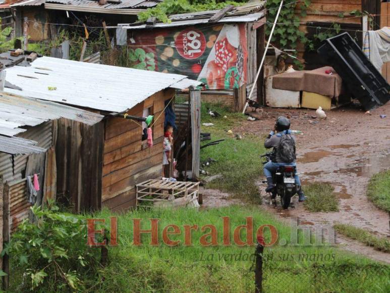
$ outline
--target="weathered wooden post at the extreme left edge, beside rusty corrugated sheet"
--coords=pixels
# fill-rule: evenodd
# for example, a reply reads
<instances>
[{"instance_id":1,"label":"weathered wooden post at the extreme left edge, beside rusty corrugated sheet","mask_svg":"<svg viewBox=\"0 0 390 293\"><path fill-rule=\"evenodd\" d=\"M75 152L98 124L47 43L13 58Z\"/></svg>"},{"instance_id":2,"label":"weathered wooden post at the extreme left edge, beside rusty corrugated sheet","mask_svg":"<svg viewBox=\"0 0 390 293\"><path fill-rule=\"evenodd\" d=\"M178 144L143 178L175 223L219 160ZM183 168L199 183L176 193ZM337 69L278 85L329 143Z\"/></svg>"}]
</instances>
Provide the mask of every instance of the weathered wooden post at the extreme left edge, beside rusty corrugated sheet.
<instances>
[{"instance_id":1,"label":"weathered wooden post at the extreme left edge, beside rusty corrugated sheet","mask_svg":"<svg viewBox=\"0 0 390 293\"><path fill-rule=\"evenodd\" d=\"M3 189L3 245L10 242L10 186L4 185ZM10 280L10 256L5 254L3 257L3 290L8 290Z\"/></svg>"}]
</instances>

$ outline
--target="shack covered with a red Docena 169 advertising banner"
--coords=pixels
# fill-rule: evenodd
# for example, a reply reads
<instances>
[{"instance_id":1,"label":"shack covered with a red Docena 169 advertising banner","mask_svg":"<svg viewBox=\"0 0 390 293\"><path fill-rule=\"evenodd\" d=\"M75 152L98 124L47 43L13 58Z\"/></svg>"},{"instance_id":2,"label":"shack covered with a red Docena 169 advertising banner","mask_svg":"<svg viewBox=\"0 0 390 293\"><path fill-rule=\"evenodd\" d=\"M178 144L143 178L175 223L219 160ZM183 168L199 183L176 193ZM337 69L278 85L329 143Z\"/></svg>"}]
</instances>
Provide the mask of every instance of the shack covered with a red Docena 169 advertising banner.
<instances>
[{"instance_id":1,"label":"shack covered with a red Docena 169 advertising banner","mask_svg":"<svg viewBox=\"0 0 390 293\"><path fill-rule=\"evenodd\" d=\"M203 83L202 101L242 111L263 53L264 6L253 1L170 15L169 23L119 24L117 35L124 36L120 44L129 47L134 68L188 75ZM262 95L262 82L257 80L251 99Z\"/></svg>"}]
</instances>

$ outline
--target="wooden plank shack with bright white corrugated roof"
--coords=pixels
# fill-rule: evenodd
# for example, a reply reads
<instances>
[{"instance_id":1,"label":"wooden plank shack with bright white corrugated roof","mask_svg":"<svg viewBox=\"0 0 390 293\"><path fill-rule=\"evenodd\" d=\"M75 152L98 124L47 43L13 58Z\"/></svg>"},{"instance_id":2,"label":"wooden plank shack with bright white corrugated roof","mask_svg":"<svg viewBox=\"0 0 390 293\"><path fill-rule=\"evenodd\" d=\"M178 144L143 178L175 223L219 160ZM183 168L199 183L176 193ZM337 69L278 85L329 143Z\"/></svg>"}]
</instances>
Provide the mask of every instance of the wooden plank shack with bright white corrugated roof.
<instances>
[{"instance_id":1,"label":"wooden plank shack with bright white corrugated roof","mask_svg":"<svg viewBox=\"0 0 390 293\"><path fill-rule=\"evenodd\" d=\"M7 69L9 81L22 88L22 93L104 116L93 126L58 121L58 201L72 206L75 212L134 206L135 184L161 177L165 101L172 103L176 88L200 83L184 75L49 57L38 58L31 65ZM36 73L41 70L46 74ZM47 90L48 84L57 89ZM144 127L140 122L123 118L126 113L154 115L153 146L142 140Z\"/></svg>"}]
</instances>

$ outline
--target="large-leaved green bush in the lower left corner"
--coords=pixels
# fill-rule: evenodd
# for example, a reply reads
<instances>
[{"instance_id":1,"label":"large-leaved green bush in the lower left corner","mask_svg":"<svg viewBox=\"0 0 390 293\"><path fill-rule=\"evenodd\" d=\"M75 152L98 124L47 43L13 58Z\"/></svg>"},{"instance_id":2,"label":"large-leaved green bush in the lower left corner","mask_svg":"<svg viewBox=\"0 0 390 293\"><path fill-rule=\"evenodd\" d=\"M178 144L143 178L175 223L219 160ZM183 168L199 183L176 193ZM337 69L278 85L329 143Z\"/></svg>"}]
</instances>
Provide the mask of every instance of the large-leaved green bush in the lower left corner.
<instances>
[{"instance_id":1,"label":"large-leaved green bush in the lower left corner","mask_svg":"<svg viewBox=\"0 0 390 293\"><path fill-rule=\"evenodd\" d=\"M81 280L93 280L99 267L99 249L87 246L86 220L60 213L49 204L31 208L36 223L24 221L3 251L10 254L12 270L24 272L19 291L83 290Z\"/></svg>"}]
</instances>

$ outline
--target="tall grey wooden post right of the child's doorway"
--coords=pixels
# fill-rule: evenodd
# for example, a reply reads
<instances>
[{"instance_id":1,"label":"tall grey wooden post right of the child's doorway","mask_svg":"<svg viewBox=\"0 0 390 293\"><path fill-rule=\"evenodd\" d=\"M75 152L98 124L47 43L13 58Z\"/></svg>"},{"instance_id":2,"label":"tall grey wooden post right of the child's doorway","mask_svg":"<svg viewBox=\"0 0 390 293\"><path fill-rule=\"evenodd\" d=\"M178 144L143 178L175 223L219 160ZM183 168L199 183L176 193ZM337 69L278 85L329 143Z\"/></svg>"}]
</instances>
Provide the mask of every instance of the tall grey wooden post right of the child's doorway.
<instances>
[{"instance_id":1,"label":"tall grey wooden post right of the child's doorway","mask_svg":"<svg viewBox=\"0 0 390 293\"><path fill-rule=\"evenodd\" d=\"M199 177L200 167L200 90L190 90L191 134L192 134L192 177Z\"/></svg>"}]
</instances>

